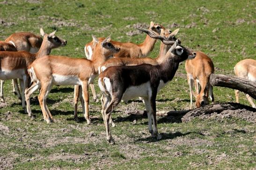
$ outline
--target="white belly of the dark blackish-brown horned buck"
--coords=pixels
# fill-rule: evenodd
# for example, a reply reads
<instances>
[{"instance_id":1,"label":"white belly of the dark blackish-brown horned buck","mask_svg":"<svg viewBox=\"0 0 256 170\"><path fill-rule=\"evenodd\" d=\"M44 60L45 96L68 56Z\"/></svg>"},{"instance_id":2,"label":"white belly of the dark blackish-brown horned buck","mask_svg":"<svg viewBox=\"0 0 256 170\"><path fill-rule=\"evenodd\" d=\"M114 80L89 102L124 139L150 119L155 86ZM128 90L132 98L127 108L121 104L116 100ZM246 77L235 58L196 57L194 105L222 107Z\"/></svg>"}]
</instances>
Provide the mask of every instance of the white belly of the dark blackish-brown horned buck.
<instances>
[{"instance_id":1,"label":"white belly of the dark blackish-brown horned buck","mask_svg":"<svg viewBox=\"0 0 256 170\"><path fill-rule=\"evenodd\" d=\"M123 94L122 100L127 101L137 97L147 97L151 96L151 93L150 83L146 82L142 85L128 87Z\"/></svg>"}]
</instances>

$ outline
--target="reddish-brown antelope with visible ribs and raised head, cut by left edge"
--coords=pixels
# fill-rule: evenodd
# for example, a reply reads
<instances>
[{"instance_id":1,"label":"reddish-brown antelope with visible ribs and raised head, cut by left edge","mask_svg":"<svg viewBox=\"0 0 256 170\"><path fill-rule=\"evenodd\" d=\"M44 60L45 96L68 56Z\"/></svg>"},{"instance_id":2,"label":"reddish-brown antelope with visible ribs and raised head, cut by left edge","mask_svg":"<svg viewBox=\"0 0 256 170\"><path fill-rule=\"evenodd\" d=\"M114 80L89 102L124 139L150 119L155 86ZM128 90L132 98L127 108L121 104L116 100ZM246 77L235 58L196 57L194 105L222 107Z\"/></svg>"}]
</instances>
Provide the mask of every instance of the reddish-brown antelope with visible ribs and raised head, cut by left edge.
<instances>
[{"instance_id":1,"label":"reddish-brown antelope with visible ribs and raised head, cut by left edge","mask_svg":"<svg viewBox=\"0 0 256 170\"><path fill-rule=\"evenodd\" d=\"M36 54L32 54L27 51L0 51L0 79L20 79L22 87L22 107L24 109L24 90L28 88L29 85L29 64L31 64L34 60L36 60L39 57L49 55L51 53L51 49L66 45L65 40L62 40L54 35L56 30L49 35L45 34L42 28L40 29L40 32L42 35L44 35L44 40L40 50Z\"/></svg>"}]
</instances>

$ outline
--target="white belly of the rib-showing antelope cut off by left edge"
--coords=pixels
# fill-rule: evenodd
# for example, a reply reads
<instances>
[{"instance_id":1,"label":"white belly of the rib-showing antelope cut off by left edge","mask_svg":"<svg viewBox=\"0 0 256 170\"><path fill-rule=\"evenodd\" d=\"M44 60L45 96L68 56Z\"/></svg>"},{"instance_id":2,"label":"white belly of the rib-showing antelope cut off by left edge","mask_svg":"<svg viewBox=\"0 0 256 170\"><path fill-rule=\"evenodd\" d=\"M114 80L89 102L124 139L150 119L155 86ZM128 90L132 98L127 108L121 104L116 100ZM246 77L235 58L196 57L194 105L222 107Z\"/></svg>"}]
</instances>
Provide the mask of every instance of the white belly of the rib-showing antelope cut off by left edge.
<instances>
[{"instance_id":1,"label":"white belly of the rib-showing antelope cut off by left edge","mask_svg":"<svg viewBox=\"0 0 256 170\"><path fill-rule=\"evenodd\" d=\"M0 71L0 80L9 80L15 78L21 78L25 75L24 69L17 69L17 70L4 70Z\"/></svg>"}]
</instances>

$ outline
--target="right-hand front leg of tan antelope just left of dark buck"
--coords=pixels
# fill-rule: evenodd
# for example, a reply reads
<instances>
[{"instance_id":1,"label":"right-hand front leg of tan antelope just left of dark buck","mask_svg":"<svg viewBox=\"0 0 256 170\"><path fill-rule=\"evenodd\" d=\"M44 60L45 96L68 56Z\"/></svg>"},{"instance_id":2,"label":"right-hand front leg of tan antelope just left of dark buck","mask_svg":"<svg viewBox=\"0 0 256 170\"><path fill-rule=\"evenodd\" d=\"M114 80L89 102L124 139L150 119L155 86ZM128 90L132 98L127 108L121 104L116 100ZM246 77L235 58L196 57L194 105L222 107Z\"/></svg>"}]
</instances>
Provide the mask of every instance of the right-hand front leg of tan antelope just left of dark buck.
<instances>
[{"instance_id":1,"label":"right-hand front leg of tan antelope just left of dark buck","mask_svg":"<svg viewBox=\"0 0 256 170\"><path fill-rule=\"evenodd\" d=\"M88 92L88 81L83 81L82 82L82 95L83 95L83 99L84 99L84 109L85 109L85 113L84 113L84 117L87 120L87 124L90 124L91 121L89 119L89 92Z\"/></svg>"}]
</instances>

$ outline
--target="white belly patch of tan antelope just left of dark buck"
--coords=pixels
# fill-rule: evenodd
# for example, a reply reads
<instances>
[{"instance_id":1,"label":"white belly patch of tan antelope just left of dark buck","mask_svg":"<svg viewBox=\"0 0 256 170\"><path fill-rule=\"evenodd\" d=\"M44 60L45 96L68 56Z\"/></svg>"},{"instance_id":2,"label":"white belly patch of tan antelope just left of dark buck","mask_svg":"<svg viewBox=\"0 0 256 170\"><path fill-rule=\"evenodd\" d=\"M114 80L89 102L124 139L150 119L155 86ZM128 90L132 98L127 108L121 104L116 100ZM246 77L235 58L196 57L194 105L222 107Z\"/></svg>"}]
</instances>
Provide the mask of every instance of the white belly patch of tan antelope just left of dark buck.
<instances>
[{"instance_id":1,"label":"white belly patch of tan antelope just left of dark buck","mask_svg":"<svg viewBox=\"0 0 256 170\"><path fill-rule=\"evenodd\" d=\"M52 74L52 83L55 85L81 85L80 79L77 76L63 76Z\"/></svg>"}]
</instances>

